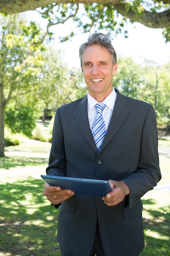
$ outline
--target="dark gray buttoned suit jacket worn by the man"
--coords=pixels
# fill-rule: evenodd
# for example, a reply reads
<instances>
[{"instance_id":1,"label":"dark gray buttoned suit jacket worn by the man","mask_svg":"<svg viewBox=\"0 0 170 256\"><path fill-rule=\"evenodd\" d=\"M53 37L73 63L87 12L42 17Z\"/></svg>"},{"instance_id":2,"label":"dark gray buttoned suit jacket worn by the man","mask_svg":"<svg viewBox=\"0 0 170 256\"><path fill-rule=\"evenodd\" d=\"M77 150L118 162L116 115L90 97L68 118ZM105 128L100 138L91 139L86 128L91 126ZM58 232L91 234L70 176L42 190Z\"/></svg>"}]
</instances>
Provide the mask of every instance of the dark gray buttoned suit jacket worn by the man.
<instances>
[{"instance_id":1,"label":"dark gray buttoned suit jacket worn by the man","mask_svg":"<svg viewBox=\"0 0 170 256\"><path fill-rule=\"evenodd\" d=\"M87 97L58 108L55 115L48 175L123 180L130 189L114 207L88 195L62 202L57 239L74 256L90 255L97 220L105 256L137 256L144 247L140 198L161 179L155 111L116 92L99 152L88 122Z\"/></svg>"}]
</instances>

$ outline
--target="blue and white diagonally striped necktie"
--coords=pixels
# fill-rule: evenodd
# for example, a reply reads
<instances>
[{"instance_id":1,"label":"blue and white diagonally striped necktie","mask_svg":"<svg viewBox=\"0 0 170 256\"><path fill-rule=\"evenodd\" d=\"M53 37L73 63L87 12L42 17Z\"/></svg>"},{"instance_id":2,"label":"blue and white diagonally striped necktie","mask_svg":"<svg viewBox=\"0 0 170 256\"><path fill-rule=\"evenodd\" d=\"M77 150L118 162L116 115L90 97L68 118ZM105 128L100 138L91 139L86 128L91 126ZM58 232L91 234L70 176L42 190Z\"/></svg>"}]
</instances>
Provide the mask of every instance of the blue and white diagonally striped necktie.
<instances>
[{"instance_id":1,"label":"blue and white diagonally striped necktie","mask_svg":"<svg viewBox=\"0 0 170 256\"><path fill-rule=\"evenodd\" d=\"M92 131L92 135L94 137L97 149L99 150L102 145L104 136L106 134L106 127L105 127L104 119L102 115L102 112L106 108L106 105L104 103L97 103L95 105L95 108L96 108L96 117L95 117L95 120L93 121L91 131Z\"/></svg>"}]
</instances>

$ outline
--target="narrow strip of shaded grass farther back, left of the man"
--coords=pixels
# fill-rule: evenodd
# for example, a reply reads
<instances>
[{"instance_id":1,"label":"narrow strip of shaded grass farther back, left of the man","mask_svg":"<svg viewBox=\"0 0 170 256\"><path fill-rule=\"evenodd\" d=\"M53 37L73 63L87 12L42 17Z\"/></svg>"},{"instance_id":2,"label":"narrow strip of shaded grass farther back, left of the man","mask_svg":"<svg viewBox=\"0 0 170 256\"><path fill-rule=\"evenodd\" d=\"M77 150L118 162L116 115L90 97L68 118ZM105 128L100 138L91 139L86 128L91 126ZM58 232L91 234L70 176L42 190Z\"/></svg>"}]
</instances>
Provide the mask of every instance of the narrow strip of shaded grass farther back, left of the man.
<instances>
[{"instance_id":1,"label":"narrow strip of shaded grass farther back, left of the man","mask_svg":"<svg viewBox=\"0 0 170 256\"><path fill-rule=\"evenodd\" d=\"M0 158L0 169L9 169L17 166L40 166L48 164L48 158L10 156Z\"/></svg>"}]
</instances>

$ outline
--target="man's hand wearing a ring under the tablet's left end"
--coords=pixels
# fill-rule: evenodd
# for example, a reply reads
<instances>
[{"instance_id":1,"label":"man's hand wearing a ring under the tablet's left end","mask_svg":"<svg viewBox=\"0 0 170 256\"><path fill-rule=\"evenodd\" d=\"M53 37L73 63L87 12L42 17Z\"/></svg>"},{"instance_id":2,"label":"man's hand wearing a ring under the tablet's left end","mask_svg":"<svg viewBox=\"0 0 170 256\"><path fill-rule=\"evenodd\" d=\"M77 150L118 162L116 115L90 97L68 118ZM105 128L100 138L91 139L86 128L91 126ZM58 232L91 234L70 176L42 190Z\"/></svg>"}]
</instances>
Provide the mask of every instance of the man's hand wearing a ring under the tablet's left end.
<instances>
[{"instance_id":1,"label":"man's hand wearing a ring under the tablet's left end","mask_svg":"<svg viewBox=\"0 0 170 256\"><path fill-rule=\"evenodd\" d=\"M74 192L68 189L61 189L59 186L50 186L45 182L43 194L51 204L60 204L74 195Z\"/></svg>"}]
</instances>

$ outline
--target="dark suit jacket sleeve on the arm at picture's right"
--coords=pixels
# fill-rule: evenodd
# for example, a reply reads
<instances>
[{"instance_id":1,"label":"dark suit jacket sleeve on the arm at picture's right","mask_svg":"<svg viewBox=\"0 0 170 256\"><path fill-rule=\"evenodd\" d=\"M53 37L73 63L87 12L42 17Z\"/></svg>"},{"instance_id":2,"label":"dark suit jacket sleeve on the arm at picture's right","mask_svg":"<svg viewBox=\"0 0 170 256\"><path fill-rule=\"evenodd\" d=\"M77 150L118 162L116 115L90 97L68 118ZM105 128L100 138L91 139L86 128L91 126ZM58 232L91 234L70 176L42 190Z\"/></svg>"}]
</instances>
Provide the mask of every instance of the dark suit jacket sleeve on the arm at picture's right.
<instances>
[{"instance_id":1,"label":"dark suit jacket sleeve on the arm at picture's right","mask_svg":"<svg viewBox=\"0 0 170 256\"><path fill-rule=\"evenodd\" d=\"M148 109L141 135L141 149L136 173L123 181L130 189L129 209L161 179L158 155L158 136L155 110Z\"/></svg>"}]
</instances>

